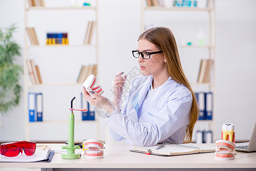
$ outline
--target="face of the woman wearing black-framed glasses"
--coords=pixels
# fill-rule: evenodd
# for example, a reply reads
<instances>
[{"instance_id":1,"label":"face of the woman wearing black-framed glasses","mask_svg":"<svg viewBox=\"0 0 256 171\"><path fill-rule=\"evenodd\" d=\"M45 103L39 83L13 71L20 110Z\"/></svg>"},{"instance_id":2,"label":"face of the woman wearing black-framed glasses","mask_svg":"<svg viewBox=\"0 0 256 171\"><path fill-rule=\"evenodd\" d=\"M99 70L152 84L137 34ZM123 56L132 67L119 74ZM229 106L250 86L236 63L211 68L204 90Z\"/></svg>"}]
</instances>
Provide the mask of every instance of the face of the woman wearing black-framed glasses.
<instances>
[{"instance_id":1,"label":"face of the woman wearing black-framed glasses","mask_svg":"<svg viewBox=\"0 0 256 171\"><path fill-rule=\"evenodd\" d=\"M138 41L139 52L157 52L160 51L155 44L149 42L146 39L140 39ZM140 55L138 58L140 70L143 75L160 75L162 72L166 72L166 63L164 62L164 54L152 54L149 59L143 59Z\"/></svg>"}]
</instances>

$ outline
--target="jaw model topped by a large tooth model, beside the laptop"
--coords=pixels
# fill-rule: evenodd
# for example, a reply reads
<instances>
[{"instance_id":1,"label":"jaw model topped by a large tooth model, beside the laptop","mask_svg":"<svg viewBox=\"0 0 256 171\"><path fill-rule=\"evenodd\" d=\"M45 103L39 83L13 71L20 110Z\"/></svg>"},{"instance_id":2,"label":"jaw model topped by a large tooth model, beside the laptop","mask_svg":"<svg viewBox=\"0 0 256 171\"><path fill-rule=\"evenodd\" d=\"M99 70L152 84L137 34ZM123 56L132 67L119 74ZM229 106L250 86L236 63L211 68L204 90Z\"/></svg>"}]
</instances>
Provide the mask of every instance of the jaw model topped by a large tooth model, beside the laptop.
<instances>
[{"instance_id":1,"label":"jaw model topped by a large tooth model, beside the laptop","mask_svg":"<svg viewBox=\"0 0 256 171\"><path fill-rule=\"evenodd\" d=\"M215 158L233 160L235 158L235 133L233 124L223 124L221 140L216 141Z\"/></svg>"}]
</instances>

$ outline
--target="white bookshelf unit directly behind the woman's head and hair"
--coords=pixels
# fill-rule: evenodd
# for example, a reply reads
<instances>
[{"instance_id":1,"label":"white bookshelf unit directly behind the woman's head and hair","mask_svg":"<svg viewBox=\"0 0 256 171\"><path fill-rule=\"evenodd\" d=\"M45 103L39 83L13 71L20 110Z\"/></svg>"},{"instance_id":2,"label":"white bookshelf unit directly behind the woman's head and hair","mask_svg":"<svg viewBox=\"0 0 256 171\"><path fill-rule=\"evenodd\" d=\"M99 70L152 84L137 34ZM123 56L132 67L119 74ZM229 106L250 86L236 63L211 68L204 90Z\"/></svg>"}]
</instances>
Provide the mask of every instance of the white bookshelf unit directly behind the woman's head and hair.
<instances>
[{"instance_id":1,"label":"white bookshelf unit directly behind the woman's head and hair","mask_svg":"<svg viewBox=\"0 0 256 171\"><path fill-rule=\"evenodd\" d=\"M212 120L198 120L195 127L192 141L196 139L196 132L199 129L203 131L212 131L212 143L214 142L214 115L216 115L215 110L215 59L216 59L216 13L215 13L215 1L214 0L205 0L204 5L197 7L177 7L173 4L160 5L160 3L167 1L151 1L152 5L148 6L147 3L150 3L151 0L141 0L141 9L140 9L140 30L141 32L145 31L148 28L156 26L164 26L170 28L176 36L176 42L178 45L178 51L180 52L180 58L182 67L185 71L186 76L189 79L189 82L194 90L194 92L212 92L213 93L213 113ZM169 2L169 1L168 1ZM172 3L174 1L171 1ZM180 1L182 2L182 1ZM199 3L199 1L197 1ZM202 2L202 1L200 1ZM153 5L153 3L158 3ZM200 26L204 28L205 34L205 43L197 44L192 43L188 45L182 41L181 37L184 32L190 32L190 35L197 35L193 30L193 21L196 19ZM153 23L156 25L153 25ZM189 27L182 28L185 24L188 24ZM192 24L191 24L192 23ZM180 26L180 27L179 27ZM192 29L192 31L191 31ZM194 32L193 32L194 31ZM194 39L193 39L194 40ZM195 41L194 41L195 42ZM197 56L197 54L200 54ZM189 56L189 57L188 57ZM204 56L204 57L202 57ZM189 59L190 58L190 59ZM209 59L213 60L212 66L212 75L209 83L198 83L197 77L200 69L200 59ZM186 62L188 60L189 62ZM189 64L186 64L189 63ZM194 64L194 71L191 71ZM190 68L190 70L189 70Z\"/></svg>"}]
</instances>

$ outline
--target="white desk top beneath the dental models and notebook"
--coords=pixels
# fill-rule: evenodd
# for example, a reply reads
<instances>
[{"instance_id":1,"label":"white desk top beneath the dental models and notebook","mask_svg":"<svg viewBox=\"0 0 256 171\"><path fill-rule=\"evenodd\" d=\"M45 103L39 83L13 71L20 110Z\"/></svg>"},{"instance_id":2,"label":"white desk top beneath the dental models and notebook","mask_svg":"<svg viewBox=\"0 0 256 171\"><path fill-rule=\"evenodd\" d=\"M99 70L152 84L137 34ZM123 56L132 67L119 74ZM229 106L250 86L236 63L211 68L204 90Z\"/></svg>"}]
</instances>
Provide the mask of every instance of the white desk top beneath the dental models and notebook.
<instances>
[{"instance_id":1,"label":"white desk top beneath the dental models and notebook","mask_svg":"<svg viewBox=\"0 0 256 171\"><path fill-rule=\"evenodd\" d=\"M64 144L47 144L61 150ZM256 168L256 153L237 152L235 160L215 160L214 153L185 156L154 156L130 152L129 144L104 144L104 158L62 159L55 153L51 162L0 162L0 168Z\"/></svg>"}]
</instances>

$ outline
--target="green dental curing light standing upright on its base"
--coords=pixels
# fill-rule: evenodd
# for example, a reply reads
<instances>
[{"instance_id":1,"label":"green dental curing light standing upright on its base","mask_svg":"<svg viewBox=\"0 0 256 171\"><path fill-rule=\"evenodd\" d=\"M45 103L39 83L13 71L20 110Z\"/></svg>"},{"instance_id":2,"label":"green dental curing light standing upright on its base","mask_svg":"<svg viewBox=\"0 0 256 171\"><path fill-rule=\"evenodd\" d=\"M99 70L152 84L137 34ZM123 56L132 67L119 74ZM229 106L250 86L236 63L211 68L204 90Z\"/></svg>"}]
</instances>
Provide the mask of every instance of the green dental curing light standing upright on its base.
<instances>
[{"instance_id":1,"label":"green dental curing light standing upright on its base","mask_svg":"<svg viewBox=\"0 0 256 171\"><path fill-rule=\"evenodd\" d=\"M64 159L77 159L81 157L81 154L76 153L75 154L75 149L80 149L79 145L74 146L74 124L75 124L75 117L73 110L75 111L84 111L84 109L73 109L73 99L71 100L71 112L70 116L68 117L68 145L67 146L62 146L62 149L67 149L67 153L62 154L62 158Z\"/></svg>"}]
</instances>

